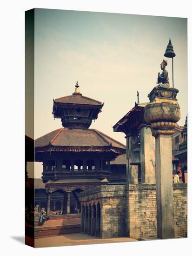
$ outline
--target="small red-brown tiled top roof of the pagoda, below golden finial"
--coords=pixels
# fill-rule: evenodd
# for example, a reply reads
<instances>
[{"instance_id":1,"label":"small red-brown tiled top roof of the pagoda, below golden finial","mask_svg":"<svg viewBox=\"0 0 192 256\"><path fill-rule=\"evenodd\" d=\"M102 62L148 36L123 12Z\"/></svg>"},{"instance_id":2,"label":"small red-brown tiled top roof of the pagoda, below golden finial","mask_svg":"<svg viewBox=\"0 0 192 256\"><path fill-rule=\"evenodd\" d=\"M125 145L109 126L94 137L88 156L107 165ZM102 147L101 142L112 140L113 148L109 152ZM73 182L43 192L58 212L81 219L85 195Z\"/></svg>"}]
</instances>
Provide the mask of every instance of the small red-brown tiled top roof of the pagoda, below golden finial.
<instances>
[{"instance_id":1,"label":"small red-brown tiled top roof of the pagoda, below golden finial","mask_svg":"<svg viewBox=\"0 0 192 256\"><path fill-rule=\"evenodd\" d=\"M54 100L59 103L68 103L68 104L85 104L85 105L102 105L103 103L100 101L93 100L86 96L82 96L81 94L69 95L65 97L61 97Z\"/></svg>"}]
</instances>

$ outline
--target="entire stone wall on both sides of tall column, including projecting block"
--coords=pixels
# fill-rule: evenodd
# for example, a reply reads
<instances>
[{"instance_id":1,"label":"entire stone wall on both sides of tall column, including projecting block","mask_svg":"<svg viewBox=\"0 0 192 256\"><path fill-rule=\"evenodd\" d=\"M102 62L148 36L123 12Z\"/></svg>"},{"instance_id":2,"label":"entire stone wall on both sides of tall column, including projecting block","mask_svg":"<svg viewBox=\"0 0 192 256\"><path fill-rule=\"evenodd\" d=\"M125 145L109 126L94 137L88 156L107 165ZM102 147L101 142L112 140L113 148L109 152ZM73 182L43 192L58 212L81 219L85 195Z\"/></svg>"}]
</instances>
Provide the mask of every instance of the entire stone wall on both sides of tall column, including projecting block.
<instances>
[{"instance_id":1,"label":"entire stone wall on both sides of tall column, including projecting block","mask_svg":"<svg viewBox=\"0 0 192 256\"><path fill-rule=\"evenodd\" d=\"M173 184L175 236L187 236L187 184ZM100 237L157 237L155 184L101 185L81 192L81 205L100 203Z\"/></svg>"}]
</instances>

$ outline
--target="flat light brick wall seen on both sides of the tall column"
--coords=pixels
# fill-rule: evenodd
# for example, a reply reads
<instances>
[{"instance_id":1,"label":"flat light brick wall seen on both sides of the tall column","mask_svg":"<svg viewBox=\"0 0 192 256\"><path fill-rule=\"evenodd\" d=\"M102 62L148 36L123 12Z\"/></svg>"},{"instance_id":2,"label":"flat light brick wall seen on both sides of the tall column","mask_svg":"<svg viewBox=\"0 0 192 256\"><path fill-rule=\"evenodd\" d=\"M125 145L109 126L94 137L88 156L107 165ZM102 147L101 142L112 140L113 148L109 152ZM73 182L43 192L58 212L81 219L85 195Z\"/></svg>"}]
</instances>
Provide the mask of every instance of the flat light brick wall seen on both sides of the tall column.
<instances>
[{"instance_id":1,"label":"flat light brick wall seen on both sides of the tall column","mask_svg":"<svg viewBox=\"0 0 192 256\"><path fill-rule=\"evenodd\" d=\"M187 236L187 184L173 184L175 236ZM155 184L130 184L127 189L127 235L157 237Z\"/></svg>"}]
</instances>

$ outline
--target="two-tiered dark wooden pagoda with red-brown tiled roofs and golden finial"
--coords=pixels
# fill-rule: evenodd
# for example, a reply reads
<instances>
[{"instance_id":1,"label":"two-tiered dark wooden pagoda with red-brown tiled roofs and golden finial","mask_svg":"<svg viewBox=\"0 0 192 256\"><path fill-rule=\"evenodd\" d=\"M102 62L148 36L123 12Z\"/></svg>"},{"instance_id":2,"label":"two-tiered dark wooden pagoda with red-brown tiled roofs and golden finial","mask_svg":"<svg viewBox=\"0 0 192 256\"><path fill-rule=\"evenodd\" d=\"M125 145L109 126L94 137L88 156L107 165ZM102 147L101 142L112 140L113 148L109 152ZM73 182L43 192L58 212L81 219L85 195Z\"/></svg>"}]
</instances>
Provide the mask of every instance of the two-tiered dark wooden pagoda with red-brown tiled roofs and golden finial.
<instances>
[{"instance_id":1,"label":"two-tiered dark wooden pagoda with red-brown tiled roofs and golden finial","mask_svg":"<svg viewBox=\"0 0 192 256\"><path fill-rule=\"evenodd\" d=\"M90 129L104 103L83 96L78 82L72 95L53 100L53 116L60 118L59 128L35 140L35 161L43 163L42 180L47 194L46 215L51 197L63 196L64 215L80 209L79 193L86 188L109 183L118 175L111 161L126 154L126 146L96 129ZM126 180L126 169L125 169ZM119 182L122 182L122 174ZM79 212L79 211L78 211Z\"/></svg>"}]
</instances>

